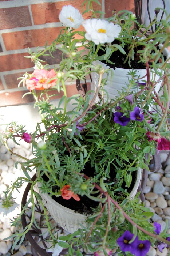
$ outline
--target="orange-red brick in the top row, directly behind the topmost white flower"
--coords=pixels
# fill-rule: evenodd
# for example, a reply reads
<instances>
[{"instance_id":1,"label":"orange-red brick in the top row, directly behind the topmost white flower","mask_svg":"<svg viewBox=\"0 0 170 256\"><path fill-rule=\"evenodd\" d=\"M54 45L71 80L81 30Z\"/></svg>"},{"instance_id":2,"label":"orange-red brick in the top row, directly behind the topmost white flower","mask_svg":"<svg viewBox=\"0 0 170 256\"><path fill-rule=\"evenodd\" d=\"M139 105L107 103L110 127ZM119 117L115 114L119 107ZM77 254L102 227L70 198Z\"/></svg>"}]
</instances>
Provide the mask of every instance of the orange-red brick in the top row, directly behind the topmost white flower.
<instances>
[{"instance_id":1,"label":"orange-red brick in the top row, directly behind the topmost white flower","mask_svg":"<svg viewBox=\"0 0 170 256\"><path fill-rule=\"evenodd\" d=\"M82 4L84 0L69 0L69 1L62 1L56 3L40 3L40 4L32 4L31 11L33 16L33 21L35 25L45 24L50 22L59 22L59 13L62 10L64 5L72 5L77 8L80 13L82 13ZM101 0L100 0L101 3ZM101 10L101 6L94 3L94 10ZM83 10L85 10L85 5ZM83 18L88 19L90 18L91 14L84 14Z\"/></svg>"}]
</instances>

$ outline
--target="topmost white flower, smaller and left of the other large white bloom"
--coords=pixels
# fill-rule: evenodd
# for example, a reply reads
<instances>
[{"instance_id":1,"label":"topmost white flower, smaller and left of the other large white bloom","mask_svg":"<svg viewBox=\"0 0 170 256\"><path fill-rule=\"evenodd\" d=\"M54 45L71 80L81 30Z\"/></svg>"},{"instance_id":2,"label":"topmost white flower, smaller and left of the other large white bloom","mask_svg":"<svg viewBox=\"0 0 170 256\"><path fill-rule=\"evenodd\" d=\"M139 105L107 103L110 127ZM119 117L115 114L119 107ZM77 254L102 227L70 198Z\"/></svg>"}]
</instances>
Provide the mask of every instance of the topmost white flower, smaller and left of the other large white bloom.
<instances>
[{"instance_id":1,"label":"topmost white flower, smaller and left of the other large white bloom","mask_svg":"<svg viewBox=\"0 0 170 256\"><path fill-rule=\"evenodd\" d=\"M77 29L83 21L83 17L79 10L71 5L63 6L60 11L59 19L66 27L73 27L75 29Z\"/></svg>"}]
</instances>

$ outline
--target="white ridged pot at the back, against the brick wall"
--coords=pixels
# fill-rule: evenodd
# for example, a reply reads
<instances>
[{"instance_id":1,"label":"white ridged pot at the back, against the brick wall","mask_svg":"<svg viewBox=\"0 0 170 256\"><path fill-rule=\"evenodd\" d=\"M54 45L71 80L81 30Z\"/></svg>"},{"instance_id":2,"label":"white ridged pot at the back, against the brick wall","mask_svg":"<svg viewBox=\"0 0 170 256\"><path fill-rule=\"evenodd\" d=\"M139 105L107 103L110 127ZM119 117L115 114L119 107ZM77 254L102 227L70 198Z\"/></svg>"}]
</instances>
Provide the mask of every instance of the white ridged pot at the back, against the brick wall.
<instances>
[{"instance_id":1,"label":"white ridged pot at the back, against the brick wall","mask_svg":"<svg viewBox=\"0 0 170 256\"><path fill-rule=\"evenodd\" d=\"M159 48L162 48L162 45L159 45ZM163 55L167 58L170 57L170 53L168 49L164 49L163 50ZM99 60L96 60L93 62L94 66L97 65L102 65L102 67L104 69L108 69L110 68L107 64L102 63ZM109 94L109 99L114 99L115 96L118 96L118 91L121 91L121 89L123 87L126 88L126 84L129 84L129 80L131 79L131 75L129 75L128 73L131 71L131 69L125 69L125 68L110 68L110 70L113 72L113 79L112 79L112 83L111 83L111 72L109 72L109 76L108 76L108 80L107 80L107 84L104 86L104 89L108 92ZM137 82L141 82L143 83L143 81L146 81L146 69L137 69L136 70L136 75L138 77ZM98 86L98 81L99 81L99 74L96 72L92 72L91 73L91 77L92 77L92 90L96 91L96 87ZM103 74L103 79L107 77L107 74L104 73ZM150 70L150 80L151 81L157 81L159 79L159 76L156 74L153 70ZM155 86L155 91L156 93L158 93L160 86L161 86L162 81L158 82L157 85ZM104 97L104 99L106 100L106 97ZM99 101L99 98L96 97L95 103L97 103Z\"/></svg>"}]
</instances>

